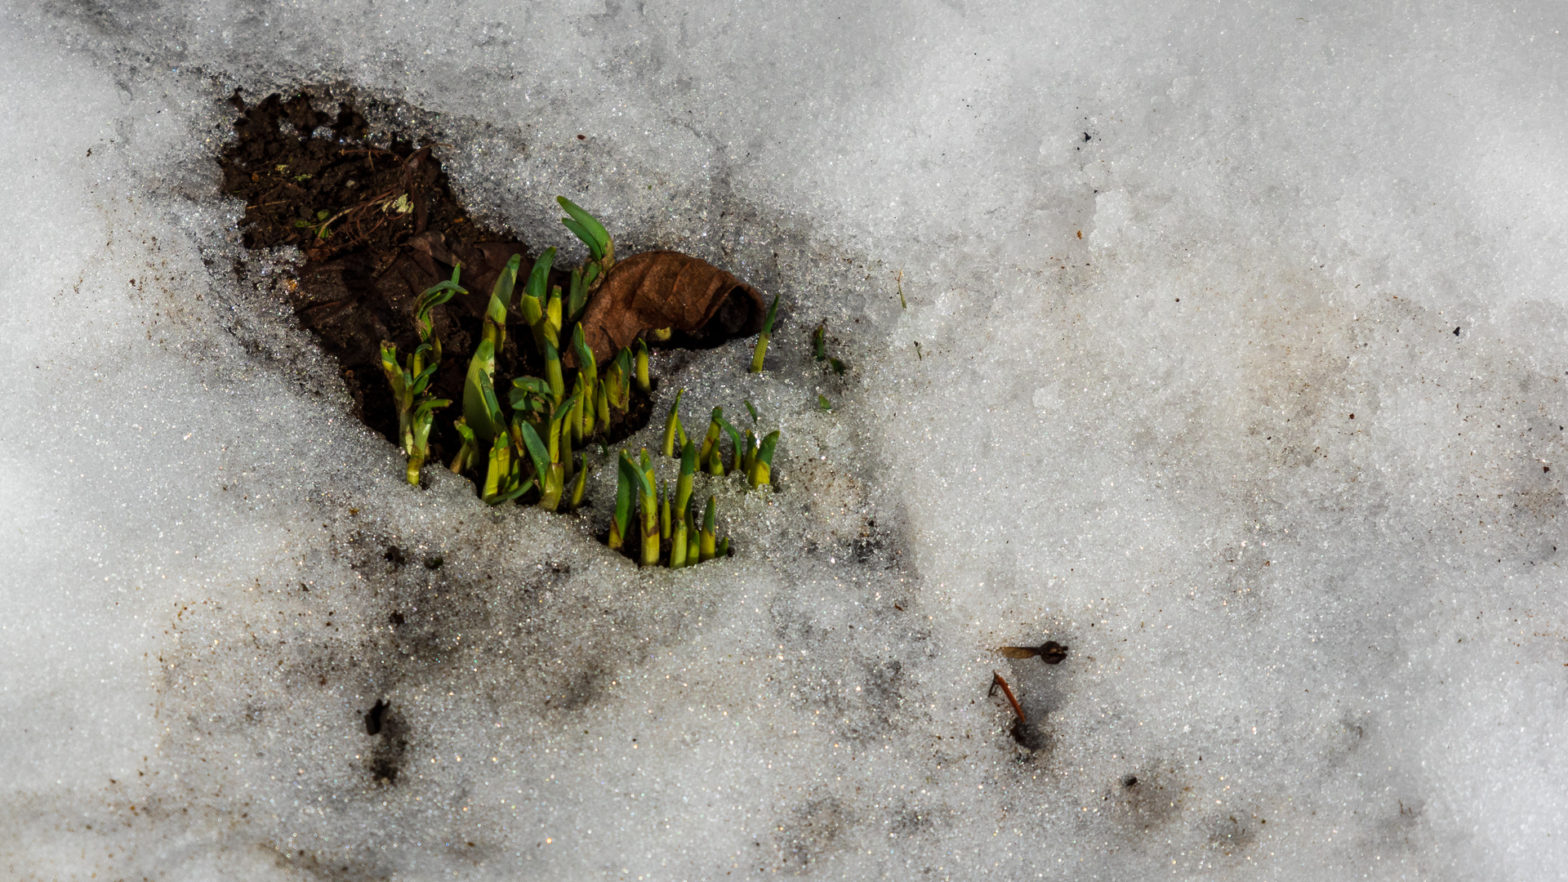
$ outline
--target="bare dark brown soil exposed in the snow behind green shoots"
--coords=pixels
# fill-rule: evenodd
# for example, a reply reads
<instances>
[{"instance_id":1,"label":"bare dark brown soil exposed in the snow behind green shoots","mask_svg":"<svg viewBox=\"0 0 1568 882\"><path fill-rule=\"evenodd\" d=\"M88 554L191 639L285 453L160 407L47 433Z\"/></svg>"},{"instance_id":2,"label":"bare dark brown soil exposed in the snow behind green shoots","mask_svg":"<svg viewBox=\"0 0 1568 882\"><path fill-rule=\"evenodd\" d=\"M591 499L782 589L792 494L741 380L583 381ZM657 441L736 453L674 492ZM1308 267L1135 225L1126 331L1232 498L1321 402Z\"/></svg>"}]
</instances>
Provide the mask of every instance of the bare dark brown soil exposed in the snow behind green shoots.
<instances>
[{"instance_id":1,"label":"bare dark brown soil exposed in the snow behind green shoots","mask_svg":"<svg viewBox=\"0 0 1568 882\"><path fill-rule=\"evenodd\" d=\"M237 137L221 155L223 191L246 202L243 242L248 248L293 245L304 253L299 278L289 286L290 306L337 359L356 416L395 443L397 411L379 367L381 341L411 352L419 344L419 293L450 278L461 261L469 293L433 314L445 350L433 394L461 402L489 290L513 254L522 254L521 278L527 278L533 253L469 217L430 146L400 137L370 140L365 118L348 102L336 113L318 110L323 104L310 94L287 100L274 94L256 105L235 96L234 105L240 116ZM566 272L552 270L550 284L566 287ZM516 325L497 355L502 397L513 377L543 375L532 364L538 358L532 345L519 345L528 339ZM431 463L456 450L452 421L459 406L437 413ZM633 392L630 411L607 441L646 425L649 410L648 397Z\"/></svg>"}]
</instances>

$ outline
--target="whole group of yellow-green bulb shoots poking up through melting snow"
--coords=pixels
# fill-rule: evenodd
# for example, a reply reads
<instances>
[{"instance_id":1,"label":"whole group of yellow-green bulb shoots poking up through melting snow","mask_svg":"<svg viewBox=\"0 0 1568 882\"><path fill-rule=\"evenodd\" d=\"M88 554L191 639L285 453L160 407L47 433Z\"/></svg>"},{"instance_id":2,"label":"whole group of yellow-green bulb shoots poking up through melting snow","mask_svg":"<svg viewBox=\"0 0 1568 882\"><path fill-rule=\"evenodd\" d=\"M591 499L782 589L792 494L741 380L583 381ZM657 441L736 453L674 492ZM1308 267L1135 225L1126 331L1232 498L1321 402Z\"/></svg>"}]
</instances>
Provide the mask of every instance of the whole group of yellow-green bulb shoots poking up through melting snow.
<instances>
[{"instance_id":1,"label":"whole group of yellow-green bulb shoots poking up through melting snow","mask_svg":"<svg viewBox=\"0 0 1568 882\"><path fill-rule=\"evenodd\" d=\"M450 468L456 474L472 472L477 479L483 476L480 496L491 505L522 499L530 493L535 494L535 504L549 512L580 505L590 472L588 457L582 449L590 441L602 439L610 430L612 419L629 410L633 385L643 394L651 392L648 344L641 337L616 353L602 369L583 341L582 325L577 320L588 297L615 264L615 243L588 212L564 196L557 199L568 213L561 223L588 246L590 259L583 267L572 270L564 293L560 286L546 290L555 261L554 248L546 250L533 264L521 290L517 275L522 257L514 254L508 261L491 289L481 337L469 359L463 385L463 416L453 424L461 446ZM411 485L419 485L420 468L430 455L434 411L452 403L448 399L430 395L430 383L442 355L430 311L458 293L467 293L458 284L459 273L461 267L455 267L450 279L419 297L414 323L420 344L406 359L398 359L394 344L381 344L381 369L392 386L398 438L408 454L406 477ZM757 342L756 363L760 363L767 348L767 331L773 325L776 309L778 298L768 309ZM544 377L514 378L506 394L508 406L503 410L495 391L495 356L506 342L506 317L511 314L521 315L527 323L535 352L544 366ZM571 385L568 370L561 364L563 339L577 363L571 372ZM701 521L691 507L693 476L699 469L710 476L740 472L750 479L751 487L771 482L778 432L757 443L754 432L746 430L742 435L724 419L721 408L713 408L707 436L698 446L690 443L681 428L679 405L681 394L670 408L663 444L665 455L674 457L679 438L681 472L674 494L668 493L666 487L655 490L654 469L646 450L635 461L624 450L619 458L608 543L613 549L624 548L632 534L635 501L641 515L638 521L641 545L633 557L643 565L668 562L673 568L688 567L729 552L729 538L718 540L715 534L715 497L709 497ZM756 422L756 408L750 402L746 408ZM720 452L721 433L728 433L731 439L728 466Z\"/></svg>"}]
</instances>

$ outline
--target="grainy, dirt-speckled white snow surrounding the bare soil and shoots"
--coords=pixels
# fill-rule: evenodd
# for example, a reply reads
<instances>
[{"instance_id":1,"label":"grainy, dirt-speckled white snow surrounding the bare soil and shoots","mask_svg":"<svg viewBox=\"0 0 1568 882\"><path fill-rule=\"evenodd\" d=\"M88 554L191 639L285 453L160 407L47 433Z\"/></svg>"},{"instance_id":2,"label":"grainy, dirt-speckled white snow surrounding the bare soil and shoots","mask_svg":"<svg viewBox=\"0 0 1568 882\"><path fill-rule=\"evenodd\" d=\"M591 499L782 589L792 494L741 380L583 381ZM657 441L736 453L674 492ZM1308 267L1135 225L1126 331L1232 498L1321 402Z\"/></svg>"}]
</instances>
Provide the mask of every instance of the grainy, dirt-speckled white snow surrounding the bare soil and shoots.
<instances>
[{"instance_id":1,"label":"grainy, dirt-speckled white snow surrounding the bare soil and shoots","mask_svg":"<svg viewBox=\"0 0 1568 882\"><path fill-rule=\"evenodd\" d=\"M0 16L5 879L1565 877L1568 6ZM735 557L401 485L215 195L312 83L784 297Z\"/></svg>"}]
</instances>

